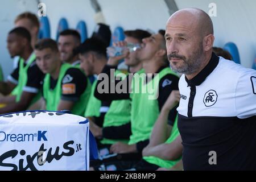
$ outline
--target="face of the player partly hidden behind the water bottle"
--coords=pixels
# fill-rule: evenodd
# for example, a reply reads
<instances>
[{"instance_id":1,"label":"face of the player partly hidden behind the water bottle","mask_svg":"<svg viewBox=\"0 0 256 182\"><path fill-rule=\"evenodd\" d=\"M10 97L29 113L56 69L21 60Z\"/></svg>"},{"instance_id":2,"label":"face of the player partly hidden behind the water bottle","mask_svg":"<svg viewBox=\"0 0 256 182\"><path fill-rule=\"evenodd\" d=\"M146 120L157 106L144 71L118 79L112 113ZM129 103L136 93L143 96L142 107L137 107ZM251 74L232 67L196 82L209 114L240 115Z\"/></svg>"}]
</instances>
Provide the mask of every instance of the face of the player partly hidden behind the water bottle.
<instances>
[{"instance_id":1,"label":"face of the player partly hidden behind the water bottle","mask_svg":"<svg viewBox=\"0 0 256 182\"><path fill-rule=\"evenodd\" d=\"M127 36L125 38L125 42L127 43L133 43L133 44L141 44L138 39L132 38L130 36ZM129 56L125 58L125 64L134 67L135 65L138 65L141 61L138 59L138 51L133 51L129 53Z\"/></svg>"}]
</instances>

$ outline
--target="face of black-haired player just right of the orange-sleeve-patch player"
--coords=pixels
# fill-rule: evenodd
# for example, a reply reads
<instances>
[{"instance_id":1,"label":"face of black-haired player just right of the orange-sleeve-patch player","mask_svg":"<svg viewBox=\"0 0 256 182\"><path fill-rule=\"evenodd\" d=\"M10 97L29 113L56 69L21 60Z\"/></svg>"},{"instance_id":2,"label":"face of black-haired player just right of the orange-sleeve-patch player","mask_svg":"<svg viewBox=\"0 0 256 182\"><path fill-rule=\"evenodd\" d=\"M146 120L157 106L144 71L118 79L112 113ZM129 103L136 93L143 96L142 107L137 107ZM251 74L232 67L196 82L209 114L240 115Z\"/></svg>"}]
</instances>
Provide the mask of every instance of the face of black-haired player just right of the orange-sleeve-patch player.
<instances>
[{"instance_id":1,"label":"face of black-haired player just right of the orange-sleeve-patch player","mask_svg":"<svg viewBox=\"0 0 256 182\"><path fill-rule=\"evenodd\" d=\"M92 60L92 53L79 54L80 68L85 72L86 76L94 75L94 64Z\"/></svg>"}]
</instances>

